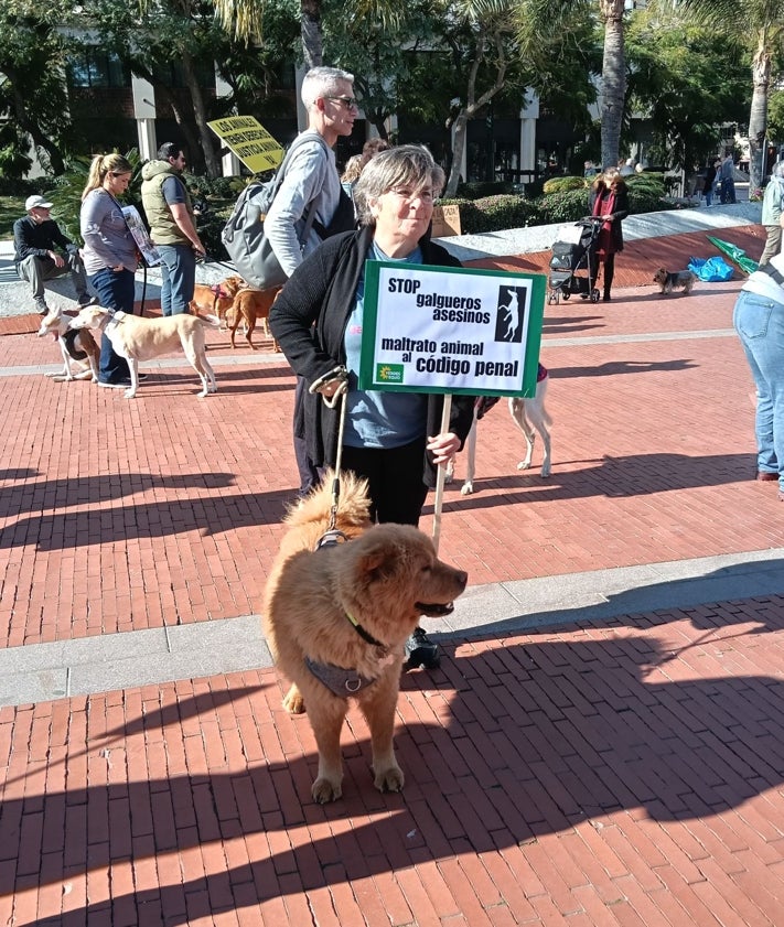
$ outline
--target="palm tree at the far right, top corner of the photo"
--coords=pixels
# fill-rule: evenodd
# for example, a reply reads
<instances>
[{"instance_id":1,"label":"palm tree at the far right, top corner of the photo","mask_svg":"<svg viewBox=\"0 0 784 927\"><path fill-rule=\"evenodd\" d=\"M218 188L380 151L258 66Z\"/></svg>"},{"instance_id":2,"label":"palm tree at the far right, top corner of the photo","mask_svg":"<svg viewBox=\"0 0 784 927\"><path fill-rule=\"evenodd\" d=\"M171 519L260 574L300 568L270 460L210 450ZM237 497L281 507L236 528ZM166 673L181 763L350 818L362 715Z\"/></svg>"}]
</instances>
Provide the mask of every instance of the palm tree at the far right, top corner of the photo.
<instances>
[{"instance_id":1,"label":"palm tree at the far right, top corner of the photo","mask_svg":"<svg viewBox=\"0 0 784 927\"><path fill-rule=\"evenodd\" d=\"M762 147L767 129L771 62L784 50L784 4L781 0L748 0L742 8L729 0L669 0L696 22L716 25L726 35L747 44L752 53L752 96L749 112L750 188L762 184Z\"/></svg>"}]
</instances>

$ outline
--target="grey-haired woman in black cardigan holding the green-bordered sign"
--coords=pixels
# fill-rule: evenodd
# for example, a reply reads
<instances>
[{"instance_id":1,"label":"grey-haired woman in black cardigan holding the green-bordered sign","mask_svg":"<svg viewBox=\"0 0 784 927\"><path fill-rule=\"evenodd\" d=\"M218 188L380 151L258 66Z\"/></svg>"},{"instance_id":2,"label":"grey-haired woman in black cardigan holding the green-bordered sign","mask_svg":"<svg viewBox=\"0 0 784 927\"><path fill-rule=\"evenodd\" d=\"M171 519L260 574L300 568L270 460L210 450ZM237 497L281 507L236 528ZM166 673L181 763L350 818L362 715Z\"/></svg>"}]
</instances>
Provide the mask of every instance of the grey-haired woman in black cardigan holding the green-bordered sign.
<instances>
[{"instance_id":1,"label":"grey-haired woman in black cardigan holding the green-bordered sign","mask_svg":"<svg viewBox=\"0 0 784 927\"><path fill-rule=\"evenodd\" d=\"M455 396L449 430L440 433L443 397L437 394L358 389L365 292L365 261L460 267L429 237L433 202L444 175L420 145L377 154L354 190L358 231L324 241L297 268L270 312L270 328L294 371L331 398L348 371L342 466L369 483L376 521L417 525L436 467L459 451L473 420L473 398ZM320 396L304 396L296 410L308 453L319 466L334 466L339 411ZM425 647L422 632L417 633ZM409 653L414 644L410 644ZM412 660L409 659L409 665ZM416 664L414 664L416 665Z\"/></svg>"}]
</instances>

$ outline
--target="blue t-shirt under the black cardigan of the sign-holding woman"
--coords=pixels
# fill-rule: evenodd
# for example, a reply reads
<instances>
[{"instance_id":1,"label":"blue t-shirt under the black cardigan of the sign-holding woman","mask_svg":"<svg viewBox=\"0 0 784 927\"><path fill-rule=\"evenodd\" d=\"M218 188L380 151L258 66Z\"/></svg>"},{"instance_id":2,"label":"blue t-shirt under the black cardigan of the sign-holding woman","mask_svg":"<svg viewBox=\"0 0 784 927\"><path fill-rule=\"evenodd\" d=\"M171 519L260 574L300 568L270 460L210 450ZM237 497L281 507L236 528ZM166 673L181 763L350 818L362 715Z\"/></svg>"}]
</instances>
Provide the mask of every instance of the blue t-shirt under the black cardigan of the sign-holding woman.
<instances>
[{"instance_id":1,"label":"blue t-shirt under the black cardigan of the sign-holding woman","mask_svg":"<svg viewBox=\"0 0 784 927\"><path fill-rule=\"evenodd\" d=\"M408 257L389 258L373 242L368 260L421 263L422 251L416 248ZM343 443L350 448L402 448L425 436L427 397L414 392L377 392L357 388L362 353L362 320L365 309L365 276L356 288L356 302L348 316L344 336L348 392Z\"/></svg>"}]
</instances>

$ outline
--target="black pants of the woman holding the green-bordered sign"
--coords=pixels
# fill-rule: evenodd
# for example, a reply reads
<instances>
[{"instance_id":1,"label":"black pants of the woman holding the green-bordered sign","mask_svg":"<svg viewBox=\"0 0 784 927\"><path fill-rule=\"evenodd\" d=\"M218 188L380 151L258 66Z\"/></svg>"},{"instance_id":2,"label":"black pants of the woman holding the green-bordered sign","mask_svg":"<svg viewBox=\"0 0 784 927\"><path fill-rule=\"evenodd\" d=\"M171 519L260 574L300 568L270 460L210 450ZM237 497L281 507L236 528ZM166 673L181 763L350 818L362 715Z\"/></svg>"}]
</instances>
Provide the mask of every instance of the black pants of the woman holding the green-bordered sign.
<instances>
[{"instance_id":1,"label":"black pants of the woman holding the green-bordered sign","mask_svg":"<svg viewBox=\"0 0 784 927\"><path fill-rule=\"evenodd\" d=\"M370 485L370 520L419 525L428 495L422 482L425 439L402 448L348 448L343 445L341 466Z\"/></svg>"}]
</instances>

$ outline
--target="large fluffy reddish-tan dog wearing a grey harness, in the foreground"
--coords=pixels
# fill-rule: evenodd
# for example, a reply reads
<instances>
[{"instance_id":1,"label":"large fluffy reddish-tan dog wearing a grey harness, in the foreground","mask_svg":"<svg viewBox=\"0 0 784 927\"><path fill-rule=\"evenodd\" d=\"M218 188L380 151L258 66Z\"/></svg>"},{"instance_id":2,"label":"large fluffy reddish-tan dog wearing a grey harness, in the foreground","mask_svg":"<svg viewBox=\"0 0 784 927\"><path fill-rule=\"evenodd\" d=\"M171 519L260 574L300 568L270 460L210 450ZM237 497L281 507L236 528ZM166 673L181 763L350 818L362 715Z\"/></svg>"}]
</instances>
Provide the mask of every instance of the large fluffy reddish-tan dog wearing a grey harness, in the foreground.
<instances>
[{"instance_id":1,"label":"large fluffy reddish-tan dog wearing a grey harness, in the foreground","mask_svg":"<svg viewBox=\"0 0 784 927\"><path fill-rule=\"evenodd\" d=\"M355 492L362 486L357 482L348 489L352 515L341 518L339 527L362 530L367 499ZM319 746L312 795L320 804L342 795L340 741L350 697L370 731L376 788L402 788L393 731L404 643L421 615L449 614L468 580L437 558L426 535L407 525L375 525L354 540L302 549L301 542L310 543L327 524L330 492L327 477L287 519L290 530L267 582L264 607L272 656L294 683L287 702L293 691L299 697L294 710L302 710L302 698L308 707Z\"/></svg>"}]
</instances>

